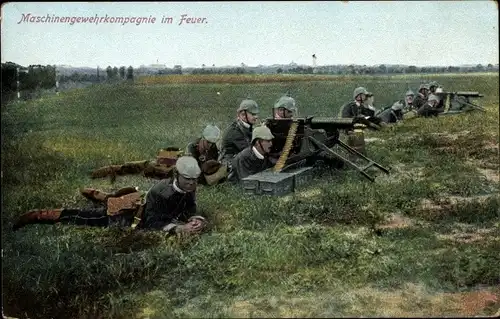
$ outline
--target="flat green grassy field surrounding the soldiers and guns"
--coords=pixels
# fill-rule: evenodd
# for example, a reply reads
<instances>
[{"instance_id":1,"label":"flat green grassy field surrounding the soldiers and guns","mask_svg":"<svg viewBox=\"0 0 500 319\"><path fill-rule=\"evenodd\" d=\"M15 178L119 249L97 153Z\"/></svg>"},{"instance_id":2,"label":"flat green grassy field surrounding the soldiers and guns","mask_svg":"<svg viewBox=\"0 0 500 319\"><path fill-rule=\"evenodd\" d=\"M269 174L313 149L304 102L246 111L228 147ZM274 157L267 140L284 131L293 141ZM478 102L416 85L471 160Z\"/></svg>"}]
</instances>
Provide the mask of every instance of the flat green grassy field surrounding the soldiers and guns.
<instances>
[{"instance_id":1,"label":"flat green grassy field surrounding the soldiers and guns","mask_svg":"<svg viewBox=\"0 0 500 319\"><path fill-rule=\"evenodd\" d=\"M365 132L368 155L391 169L375 183L341 170L285 197L201 186L198 205L212 228L191 240L65 225L11 230L30 209L89 205L81 187L147 190L155 180L111 183L90 172L153 160L210 122L225 128L247 96L264 117L287 91L300 115L335 116L357 86L374 92L380 107L431 79L446 90L479 91L487 112ZM2 106L6 315L451 317L499 310L498 74L137 82Z\"/></svg>"}]
</instances>

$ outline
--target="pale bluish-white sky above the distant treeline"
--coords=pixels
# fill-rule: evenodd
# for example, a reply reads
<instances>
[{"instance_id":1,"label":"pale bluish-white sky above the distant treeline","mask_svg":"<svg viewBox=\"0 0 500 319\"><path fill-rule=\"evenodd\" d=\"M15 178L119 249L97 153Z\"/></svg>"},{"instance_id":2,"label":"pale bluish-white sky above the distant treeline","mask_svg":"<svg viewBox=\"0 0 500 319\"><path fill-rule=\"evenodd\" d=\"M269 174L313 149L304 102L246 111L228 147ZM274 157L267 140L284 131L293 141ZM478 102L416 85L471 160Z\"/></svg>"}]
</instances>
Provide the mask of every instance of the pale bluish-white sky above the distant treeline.
<instances>
[{"instance_id":1,"label":"pale bluish-white sky above the distant treeline","mask_svg":"<svg viewBox=\"0 0 500 319\"><path fill-rule=\"evenodd\" d=\"M106 23L106 14L156 21ZM205 20L179 25L182 14ZM47 15L98 24L36 22ZM25 66L312 65L312 54L318 65L499 63L498 7L483 0L10 2L1 23L2 62Z\"/></svg>"}]
</instances>

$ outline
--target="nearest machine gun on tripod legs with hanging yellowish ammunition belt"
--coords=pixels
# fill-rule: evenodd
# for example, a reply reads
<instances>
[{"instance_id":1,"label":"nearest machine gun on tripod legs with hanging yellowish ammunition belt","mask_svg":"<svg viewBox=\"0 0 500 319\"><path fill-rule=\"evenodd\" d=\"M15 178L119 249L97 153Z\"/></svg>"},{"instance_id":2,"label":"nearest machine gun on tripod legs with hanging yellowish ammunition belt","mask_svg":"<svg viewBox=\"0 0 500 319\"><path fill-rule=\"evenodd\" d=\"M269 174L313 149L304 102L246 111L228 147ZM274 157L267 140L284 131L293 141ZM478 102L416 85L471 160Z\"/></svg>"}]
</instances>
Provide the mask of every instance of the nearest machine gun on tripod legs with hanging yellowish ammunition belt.
<instances>
[{"instance_id":1,"label":"nearest machine gun on tripod legs with hanging yellowish ammunition belt","mask_svg":"<svg viewBox=\"0 0 500 319\"><path fill-rule=\"evenodd\" d=\"M298 163L321 152L325 152L325 154L355 168L372 182L375 181L375 178L366 172L370 167L378 168L384 173L389 174L388 169L367 158L339 139L341 130L352 130L359 125L374 130L380 129L380 126L374 124L367 117L333 118L311 116L291 119L268 118L265 120L265 125L275 137L271 153L280 154L274 166L275 172L297 166ZM350 159L335 152L333 148L336 145L346 150L350 155L366 161L367 164L363 167L356 165Z\"/></svg>"}]
</instances>

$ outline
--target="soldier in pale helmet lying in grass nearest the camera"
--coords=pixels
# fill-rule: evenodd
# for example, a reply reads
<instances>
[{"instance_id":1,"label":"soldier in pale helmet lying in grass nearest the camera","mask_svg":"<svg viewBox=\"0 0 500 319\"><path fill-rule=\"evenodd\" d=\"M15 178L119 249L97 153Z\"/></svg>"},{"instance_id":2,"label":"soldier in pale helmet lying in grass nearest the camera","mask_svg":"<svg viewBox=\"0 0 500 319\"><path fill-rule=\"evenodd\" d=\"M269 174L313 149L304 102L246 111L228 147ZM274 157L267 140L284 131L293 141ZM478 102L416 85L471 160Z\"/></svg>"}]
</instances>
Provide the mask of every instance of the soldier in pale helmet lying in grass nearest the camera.
<instances>
[{"instance_id":1,"label":"soldier in pale helmet lying in grass nearest the camera","mask_svg":"<svg viewBox=\"0 0 500 319\"><path fill-rule=\"evenodd\" d=\"M55 223L128 227L140 219L137 229L199 233L206 226L205 218L196 213L195 194L200 174L196 159L183 156L177 161L173 178L159 181L146 194L133 187L112 194L85 189L84 196L103 205L90 209L33 210L20 216L14 230L29 224Z\"/></svg>"}]
</instances>

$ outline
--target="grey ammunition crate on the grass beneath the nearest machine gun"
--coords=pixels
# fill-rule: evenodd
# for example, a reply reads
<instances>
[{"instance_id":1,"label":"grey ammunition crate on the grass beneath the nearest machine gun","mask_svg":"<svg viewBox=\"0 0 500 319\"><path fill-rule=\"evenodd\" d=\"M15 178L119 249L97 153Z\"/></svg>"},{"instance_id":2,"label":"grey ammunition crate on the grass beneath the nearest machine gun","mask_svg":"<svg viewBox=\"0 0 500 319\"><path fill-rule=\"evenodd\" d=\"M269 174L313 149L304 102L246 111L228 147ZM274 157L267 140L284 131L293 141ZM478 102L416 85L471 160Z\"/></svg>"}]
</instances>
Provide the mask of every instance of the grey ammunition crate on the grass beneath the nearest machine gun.
<instances>
[{"instance_id":1,"label":"grey ammunition crate on the grass beneath the nearest machine gun","mask_svg":"<svg viewBox=\"0 0 500 319\"><path fill-rule=\"evenodd\" d=\"M313 177L312 167L275 173L272 168L241 180L245 194L283 196L307 184Z\"/></svg>"}]
</instances>

